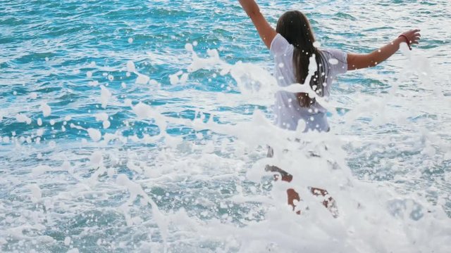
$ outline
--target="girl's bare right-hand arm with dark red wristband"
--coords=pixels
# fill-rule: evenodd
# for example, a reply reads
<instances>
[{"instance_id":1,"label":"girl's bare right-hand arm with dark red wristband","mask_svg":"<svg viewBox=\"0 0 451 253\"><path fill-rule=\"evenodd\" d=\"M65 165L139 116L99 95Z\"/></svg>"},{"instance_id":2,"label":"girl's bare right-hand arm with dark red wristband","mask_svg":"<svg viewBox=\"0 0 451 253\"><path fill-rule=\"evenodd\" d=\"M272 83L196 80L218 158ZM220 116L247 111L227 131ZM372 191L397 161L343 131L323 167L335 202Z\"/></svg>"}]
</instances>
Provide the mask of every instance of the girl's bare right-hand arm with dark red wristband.
<instances>
[{"instance_id":1,"label":"girl's bare right-hand arm with dark red wristband","mask_svg":"<svg viewBox=\"0 0 451 253\"><path fill-rule=\"evenodd\" d=\"M419 32L420 30L410 30L408 32L404 32L400 35L400 37L391 43L379 48L376 51L373 51L372 53L348 53L347 70L359 70L365 67L374 67L379 63L382 63L384 60L390 58L390 56L393 56L393 54L400 49L400 44L402 42L407 43L409 46L411 44L418 44L421 37Z\"/></svg>"}]
</instances>

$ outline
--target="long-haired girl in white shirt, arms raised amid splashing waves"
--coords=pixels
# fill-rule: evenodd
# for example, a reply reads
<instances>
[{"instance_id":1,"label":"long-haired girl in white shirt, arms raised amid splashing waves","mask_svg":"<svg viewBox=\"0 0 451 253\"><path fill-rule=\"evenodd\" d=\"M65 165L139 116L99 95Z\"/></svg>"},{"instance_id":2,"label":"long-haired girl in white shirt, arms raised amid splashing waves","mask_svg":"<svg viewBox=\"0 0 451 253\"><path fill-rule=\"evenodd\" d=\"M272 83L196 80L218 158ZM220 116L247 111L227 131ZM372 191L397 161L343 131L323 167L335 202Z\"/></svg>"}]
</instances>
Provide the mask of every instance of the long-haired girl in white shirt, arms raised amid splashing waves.
<instances>
[{"instance_id":1,"label":"long-haired girl in white shirt, arms raised amid splashing waves","mask_svg":"<svg viewBox=\"0 0 451 253\"><path fill-rule=\"evenodd\" d=\"M418 44L420 30L409 30L402 33L389 44L368 54L344 53L336 49L319 49L314 42L315 37L307 17L300 11L288 11L277 22L276 30L269 25L260 13L254 0L240 0L242 8L251 18L264 44L274 57L276 63L275 77L279 86L308 83L316 96L329 96L330 84L338 74L347 70L359 70L373 67L392 56L405 42L410 47ZM309 61L314 59L314 73L309 73ZM311 78L310 78L311 77ZM300 119L306 122L304 131L329 131L326 109L308 93L276 93L274 106L276 124L284 129L295 130ZM268 156L272 156L270 148ZM290 182L292 176L278 167L267 166L267 170L281 174L283 181ZM288 204L295 208L293 200L299 195L288 189ZM326 196L326 190L311 188L314 195ZM333 202L331 197L323 202L326 207Z\"/></svg>"}]
</instances>

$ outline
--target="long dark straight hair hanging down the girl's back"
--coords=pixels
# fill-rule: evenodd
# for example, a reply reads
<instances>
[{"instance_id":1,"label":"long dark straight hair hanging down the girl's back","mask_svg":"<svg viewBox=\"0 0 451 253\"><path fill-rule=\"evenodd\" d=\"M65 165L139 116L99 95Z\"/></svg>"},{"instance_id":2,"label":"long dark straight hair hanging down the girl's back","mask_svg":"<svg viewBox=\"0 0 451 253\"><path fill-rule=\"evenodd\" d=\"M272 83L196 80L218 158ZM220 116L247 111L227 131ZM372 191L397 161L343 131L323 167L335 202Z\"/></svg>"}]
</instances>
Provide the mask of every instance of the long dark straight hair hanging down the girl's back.
<instances>
[{"instance_id":1,"label":"long dark straight hair hanging down the girl's back","mask_svg":"<svg viewBox=\"0 0 451 253\"><path fill-rule=\"evenodd\" d=\"M310 80L310 87L319 96L324 96L324 83L326 82L326 59L323 53L314 46L315 36L311 30L310 22L300 11L287 11L277 22L276 31L295 47L293 52L293 67L295 67L296 82L304 84L309 72L309 58L315 55L317 71ZM307 93L297 93L299 105L309 108L316 100Z\"/></svg>"}]
</instances>

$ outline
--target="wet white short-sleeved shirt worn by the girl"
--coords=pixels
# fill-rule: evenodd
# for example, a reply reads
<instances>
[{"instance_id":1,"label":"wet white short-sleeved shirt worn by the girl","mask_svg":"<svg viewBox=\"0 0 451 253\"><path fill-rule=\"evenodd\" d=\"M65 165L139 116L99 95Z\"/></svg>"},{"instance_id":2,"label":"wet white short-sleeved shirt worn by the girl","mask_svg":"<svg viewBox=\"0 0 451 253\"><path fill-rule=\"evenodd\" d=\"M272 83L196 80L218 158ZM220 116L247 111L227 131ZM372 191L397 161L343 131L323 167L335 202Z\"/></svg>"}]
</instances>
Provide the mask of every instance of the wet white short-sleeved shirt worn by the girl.
<instances>
[{"instance_id":1,"label":"wet white short-sleeved shirt worn by the girl","mask_svg":"<svg viewBox=\"0 0 451 253\"><path fill-rule=\"evenodd\" d=\"M295 47L280 34L277 34L271 42L271 54L276 63L274 76L279 86L289 86L295 84L295 70L293 67L293 51ZM323 56L327 63L328 77L324 87L324 96L330 94L330 84L338 74L347 71L347 54L335 49L323 49ZM330 60L336 59L336 60ZM334 64L331 64L331 63ZM338 63L337 63L338 62ZM336 63L336 64L335 64ZM307 66L308 67L308 66ZM328 131L326 112L319 103L311 105L309 108L303 108L299 105L299 100L295 93L288 91L278 91L276 93L276 103L273 111L276 119L275 124L283 129L296 130L300 119L306 122L304 131Z\"/></svg>"}]
</instances>

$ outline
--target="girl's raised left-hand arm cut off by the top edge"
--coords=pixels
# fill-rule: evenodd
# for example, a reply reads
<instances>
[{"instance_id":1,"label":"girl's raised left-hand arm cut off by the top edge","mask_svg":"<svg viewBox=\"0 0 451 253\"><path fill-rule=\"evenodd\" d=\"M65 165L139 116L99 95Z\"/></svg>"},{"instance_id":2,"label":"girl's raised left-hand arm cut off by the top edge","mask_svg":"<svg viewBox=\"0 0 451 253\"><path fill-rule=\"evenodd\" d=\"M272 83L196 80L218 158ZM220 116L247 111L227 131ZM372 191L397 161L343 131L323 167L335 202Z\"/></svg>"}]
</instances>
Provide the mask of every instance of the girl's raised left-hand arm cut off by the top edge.
<instances>
[{"instance_id":1,"label":"girl's raised left-hand arm cut off by the top edge","mask_svg":"<svg viewBox=\"0 0 451 253\"><path fill-rule=\"evenodd\" d=\"M257 31L260 34L261 40L263 40L264 44L270 48L271 42L274 37L276 37L276 30L269 25L268 21L264 18L264 16L260 12L260 8L254 0L240 0L240 4L242 8L246 11L249 18L251 18L252 22L257 28Z\"/></svg>"}]
</instances>

